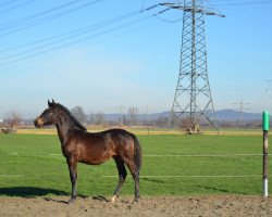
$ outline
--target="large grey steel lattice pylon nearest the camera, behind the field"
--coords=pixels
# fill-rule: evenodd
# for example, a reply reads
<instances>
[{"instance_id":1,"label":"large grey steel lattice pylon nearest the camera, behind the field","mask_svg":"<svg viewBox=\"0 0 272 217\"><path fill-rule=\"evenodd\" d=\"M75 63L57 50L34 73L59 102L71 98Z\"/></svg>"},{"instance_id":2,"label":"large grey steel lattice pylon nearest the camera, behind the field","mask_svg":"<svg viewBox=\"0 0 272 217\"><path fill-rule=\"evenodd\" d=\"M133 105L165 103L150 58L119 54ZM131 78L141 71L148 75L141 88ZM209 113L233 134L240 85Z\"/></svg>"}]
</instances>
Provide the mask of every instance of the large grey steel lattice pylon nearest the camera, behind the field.
<instances>
[{"instance_id":1,"label":"large grey steel lattice pylon nearest the camera, behind the field","mask_svg":"<svg viewBox=\"0 0 272 217\"><path fill-rule=\"evenodd\" d=\"M189 117L189 125L197 126L203 116L218 128L207 69L205 15L224 15L205 9L203 0L160 5L184 12L180 74L169 125Z\"/></svg>"}]
</instances>

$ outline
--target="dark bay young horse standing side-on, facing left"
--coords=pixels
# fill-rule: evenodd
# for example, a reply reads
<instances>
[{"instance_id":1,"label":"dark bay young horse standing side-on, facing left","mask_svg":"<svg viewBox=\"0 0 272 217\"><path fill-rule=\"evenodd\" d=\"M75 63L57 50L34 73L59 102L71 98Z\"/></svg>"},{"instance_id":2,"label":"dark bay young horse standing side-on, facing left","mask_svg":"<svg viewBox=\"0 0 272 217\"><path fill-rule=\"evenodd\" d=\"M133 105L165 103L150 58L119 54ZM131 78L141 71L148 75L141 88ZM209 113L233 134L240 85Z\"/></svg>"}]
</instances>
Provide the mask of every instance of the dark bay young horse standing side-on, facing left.
<instances>
[{"instance_id":1,"label":"dark bay young horse standing side-on, facing left","mask_svg":"<svg viewBox=\"0 0 272 217\"><path fill-rule=\"evenodd\" d=\"M101 132L87 132L73 117L71 112L59 103L48 101L46 108L34 120L35 127L55 125L61 141L63 155L66 157L72 195L69 203L76 199L77 162L98 165L111 157L115 161L119 170L119 183L111 199L114 202L119 196L126 178L126 169L131 170L135 181L135 199L139 199L139 170L141 166L141 148L135 135L123 129L110 129Z\"/></svg>"}]
</instances>

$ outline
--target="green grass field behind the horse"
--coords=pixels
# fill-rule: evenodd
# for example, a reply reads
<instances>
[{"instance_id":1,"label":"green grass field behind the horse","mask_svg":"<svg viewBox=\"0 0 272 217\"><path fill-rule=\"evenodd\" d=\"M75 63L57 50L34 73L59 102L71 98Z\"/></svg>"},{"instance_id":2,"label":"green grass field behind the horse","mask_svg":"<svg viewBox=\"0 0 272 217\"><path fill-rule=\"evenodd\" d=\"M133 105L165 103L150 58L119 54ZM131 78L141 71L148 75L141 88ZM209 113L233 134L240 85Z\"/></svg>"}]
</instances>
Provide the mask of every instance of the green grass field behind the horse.
<instances>
[{"instance_id":1,"label":"green grass field behind the horse","mask_svg":"<svg viewBox=\"0 0 272 217\"><path fill-rule=\"evenodd\" d=\"M262 194L261 136L141 135L138 138L144 151L141 195ZM269 166L272 168L271 161ZM79 164L78 194L111 195L116 175L113 161L99 166ZM70 192L69 171L57 136L0 135L1 196ZM129 176L122 194L133 193Z\"/></svg>"}]
</instances>

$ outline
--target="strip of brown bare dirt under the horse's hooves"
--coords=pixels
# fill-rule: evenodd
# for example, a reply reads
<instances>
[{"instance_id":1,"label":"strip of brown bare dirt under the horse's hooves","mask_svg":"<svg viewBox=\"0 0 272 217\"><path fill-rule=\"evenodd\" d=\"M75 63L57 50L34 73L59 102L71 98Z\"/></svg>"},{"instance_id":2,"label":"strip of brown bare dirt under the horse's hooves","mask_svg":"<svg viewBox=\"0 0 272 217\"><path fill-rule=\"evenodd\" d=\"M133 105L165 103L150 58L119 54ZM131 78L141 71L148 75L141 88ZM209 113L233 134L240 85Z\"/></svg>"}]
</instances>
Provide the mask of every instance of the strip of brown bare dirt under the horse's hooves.
<instances>
[{"instance_id":1,"label":"strip of brown bare dirt under the horse's hooves","mask_svg":"<svg viewBox=\"0 0 272 217\"><path fill-rule=\"evenodd\" d=\"M120 197L114 204L91 197L66 205L66 196L0 197L0 216L272 216L272 200L261 196L148 196L139 203Z\"/></svg>"}]
</instances>

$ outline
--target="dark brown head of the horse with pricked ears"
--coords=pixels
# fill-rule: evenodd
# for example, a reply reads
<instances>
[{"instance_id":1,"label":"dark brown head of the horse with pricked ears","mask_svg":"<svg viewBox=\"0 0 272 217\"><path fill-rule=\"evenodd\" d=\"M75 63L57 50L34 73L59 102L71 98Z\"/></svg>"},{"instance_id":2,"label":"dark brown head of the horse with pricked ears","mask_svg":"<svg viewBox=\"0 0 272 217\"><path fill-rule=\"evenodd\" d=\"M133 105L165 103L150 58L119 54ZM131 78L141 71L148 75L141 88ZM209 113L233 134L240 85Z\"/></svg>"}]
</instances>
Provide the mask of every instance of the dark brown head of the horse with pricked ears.
<instances>
[{"instance_id":1,"label":"dark brown head of the horse with pricked ears","mask_svg":"<svg viewBox=\"0 0 272 217\"><path fill-rule=\"evenodd\" d=\"M48 100L48 108L46 108L41 115L39 117L37 117L34 120L34 125L35 127L44 127L47 125L54 125L57 124L58 120L58 105L54 103L54 101L52 100L52 102L49 102Z\"/></svg>"}]
</instances>

